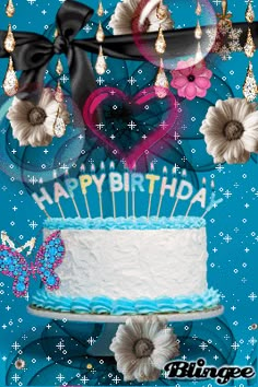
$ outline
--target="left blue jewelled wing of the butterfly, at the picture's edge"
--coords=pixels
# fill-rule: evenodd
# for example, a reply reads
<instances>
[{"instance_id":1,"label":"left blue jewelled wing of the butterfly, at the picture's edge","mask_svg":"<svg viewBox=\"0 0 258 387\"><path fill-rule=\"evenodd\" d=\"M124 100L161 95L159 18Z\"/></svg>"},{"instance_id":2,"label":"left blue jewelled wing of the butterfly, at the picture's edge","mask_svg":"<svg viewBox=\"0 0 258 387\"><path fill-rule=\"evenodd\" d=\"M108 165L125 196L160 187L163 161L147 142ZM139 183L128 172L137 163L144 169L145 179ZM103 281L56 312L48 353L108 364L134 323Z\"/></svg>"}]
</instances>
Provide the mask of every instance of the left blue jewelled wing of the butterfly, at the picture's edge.
<instances>
[{"instance_id":1,"label":"left blue jewelled wing of the butterfly, at the picture's edge","mask_svg":"<svg viewBox=\"0 0 258 387\"><path fill-rule=\"evenodd\" d=\"M0 272L14 279L12 290L17 297L27 293L30 268L26 259L13 248L0 245Z\"/></svg>"}]
</instances>

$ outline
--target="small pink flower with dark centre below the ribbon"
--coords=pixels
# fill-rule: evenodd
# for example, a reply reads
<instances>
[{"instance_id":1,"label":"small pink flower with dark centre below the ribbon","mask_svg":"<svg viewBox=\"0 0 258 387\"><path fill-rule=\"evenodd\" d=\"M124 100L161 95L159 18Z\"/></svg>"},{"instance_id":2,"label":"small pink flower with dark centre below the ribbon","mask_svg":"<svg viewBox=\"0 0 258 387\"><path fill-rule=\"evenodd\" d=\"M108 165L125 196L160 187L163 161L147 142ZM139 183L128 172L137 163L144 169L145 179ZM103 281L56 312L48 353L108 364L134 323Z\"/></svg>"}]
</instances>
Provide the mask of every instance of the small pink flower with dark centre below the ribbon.
<instances>
[{"instance_id":1,"label":"small pink flower with dark centre below the ribbon","mask_svg":"<svg viewBox=\"0 0 258 387\"><path fill-rule=\"evenodd\" d=\"M212 71L207 69L206 62L195 64L192 58L177 63L175 70L172 71L172 87L177 89L177 94L189 101L197 96L203 98L207 90L211 86Z\"/></svg>"}]
</instances>

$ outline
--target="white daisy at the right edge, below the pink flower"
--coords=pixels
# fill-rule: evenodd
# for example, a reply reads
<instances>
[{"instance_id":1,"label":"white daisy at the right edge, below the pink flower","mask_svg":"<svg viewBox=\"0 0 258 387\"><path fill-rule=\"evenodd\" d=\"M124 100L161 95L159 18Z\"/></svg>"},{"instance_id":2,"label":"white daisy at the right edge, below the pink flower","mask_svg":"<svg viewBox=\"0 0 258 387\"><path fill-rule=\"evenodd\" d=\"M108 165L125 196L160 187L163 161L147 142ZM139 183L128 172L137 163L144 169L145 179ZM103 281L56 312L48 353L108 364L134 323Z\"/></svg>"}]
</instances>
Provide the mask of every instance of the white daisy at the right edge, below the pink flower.
<instances>
[{"instance_id":1,"label":"white daisy at the right edge, below the pink flower","mask_svg":"<svg viewBox=\"0 0 258 387\"><path fill-rule=\"evenodd\" d=\"M208 109L200 132L214 163L239 164L258 152L257 104L243 98L218 101Z\"/></svg>"}]
</instances>

